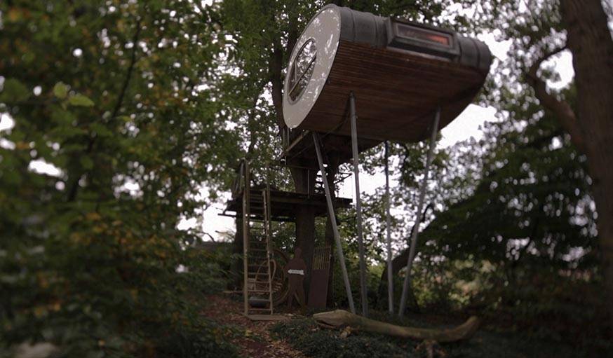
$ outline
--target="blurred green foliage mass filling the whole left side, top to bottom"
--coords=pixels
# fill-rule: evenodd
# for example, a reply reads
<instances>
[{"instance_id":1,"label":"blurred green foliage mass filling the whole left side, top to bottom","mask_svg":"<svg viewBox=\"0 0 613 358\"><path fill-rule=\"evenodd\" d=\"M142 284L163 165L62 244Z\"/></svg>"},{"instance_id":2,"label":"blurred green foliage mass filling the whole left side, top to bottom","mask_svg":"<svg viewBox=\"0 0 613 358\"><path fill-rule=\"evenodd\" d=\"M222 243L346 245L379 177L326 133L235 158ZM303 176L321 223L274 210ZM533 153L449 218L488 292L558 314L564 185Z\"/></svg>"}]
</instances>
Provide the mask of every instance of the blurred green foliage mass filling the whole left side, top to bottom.
<instances>
[{"instance_id":1,"label":"blurred green foliage mass filling the whole left side, top to bottom","mask_svg":"<svg viewBox=\"0 0 613 358\"><path fill-rule=\"evenodd\" d=\"M226 275L175 229L236 158L202 86L220 50L206 8L3 1L0 14L0 113L15 122L0 148L0 350L234 355L199 315Z\"/></svg>"}]
</instances>

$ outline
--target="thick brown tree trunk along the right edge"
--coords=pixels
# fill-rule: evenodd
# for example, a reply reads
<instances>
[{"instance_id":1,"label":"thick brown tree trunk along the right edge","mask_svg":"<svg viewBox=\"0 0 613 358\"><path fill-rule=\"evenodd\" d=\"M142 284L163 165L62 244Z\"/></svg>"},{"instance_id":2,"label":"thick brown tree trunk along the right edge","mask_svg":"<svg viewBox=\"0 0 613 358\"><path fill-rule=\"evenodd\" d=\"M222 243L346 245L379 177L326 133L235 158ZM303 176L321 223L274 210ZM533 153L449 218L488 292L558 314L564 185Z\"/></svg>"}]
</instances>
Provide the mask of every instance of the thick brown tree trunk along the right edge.
<instances>
[{"instance_id":1,"label":"thick brown tree trunk along the right edge","mask_svg":"<svg viewBox=\"0 0 613 358\"><path fill-rule=\"evenodd\" d=\"M613 322L613 41L600 0L563 0L567 46L573 55L577 117L586 139L598 212L602 269Z\"/></svg>"}]
</instances>

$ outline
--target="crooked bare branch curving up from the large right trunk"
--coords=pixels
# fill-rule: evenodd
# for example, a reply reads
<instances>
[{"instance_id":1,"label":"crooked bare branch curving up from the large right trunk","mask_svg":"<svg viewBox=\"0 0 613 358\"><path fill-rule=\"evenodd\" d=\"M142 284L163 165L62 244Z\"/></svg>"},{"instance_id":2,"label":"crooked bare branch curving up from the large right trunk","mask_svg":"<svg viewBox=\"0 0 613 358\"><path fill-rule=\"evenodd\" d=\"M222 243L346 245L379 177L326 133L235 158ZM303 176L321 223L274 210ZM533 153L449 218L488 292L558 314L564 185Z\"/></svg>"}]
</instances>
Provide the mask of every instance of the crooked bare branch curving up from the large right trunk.
<instances>
[{"instance_id":1,"label":"crooked bare branch curving up from the large right trunk","mask_svg":"<svg viewBox=\"0 0 613 358\"><path fill-rule=\"evenodd\" d=\"M579 151L585 153L585 138L579 127L577 115L568 102L560 101L560 99L547 92L547 84L537 74L544 61L562 52L566 48L566 46L561 46L547 51L532 64L525 75L527 83L534 90L534 95L539 99L541 105L552 111L555 116L558 117L558 121L560 121L562 127L570 134L572 144L574 144Z\"/></svg>"}]
</instances>

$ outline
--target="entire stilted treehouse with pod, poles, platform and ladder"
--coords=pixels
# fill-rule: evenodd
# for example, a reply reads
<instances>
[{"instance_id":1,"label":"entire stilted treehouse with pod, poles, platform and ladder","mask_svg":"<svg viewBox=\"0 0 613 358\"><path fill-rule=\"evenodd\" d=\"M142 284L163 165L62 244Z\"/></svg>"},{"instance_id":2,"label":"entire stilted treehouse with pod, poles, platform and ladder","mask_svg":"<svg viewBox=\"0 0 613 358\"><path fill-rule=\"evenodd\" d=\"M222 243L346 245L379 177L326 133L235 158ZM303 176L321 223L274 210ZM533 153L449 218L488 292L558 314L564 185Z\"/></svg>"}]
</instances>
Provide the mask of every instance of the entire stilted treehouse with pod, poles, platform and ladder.
<instances>
[{"instance_id":1,"label":"entire stilted treehouse with pod, poles, platform and ladder","mask_svg":"<svg viewBox=\"0 0 613 358\"><path fill-rule=\"evenodd\" d=\"M283 149L278 158L287 165L304 167L302 174L292 172L296 186L300 184L302 188L297 190L299 193L290 193L269 184L253 186L248 162L244 161L238 176L239 190L228 206L243 223L245 315L258 311L272 314L274 306L284 299L283 295L276 295L280 290L275 277L280 271L274 260L275 249L271 247L271 221L296 221L297 242L307 246L310 242L310 251L306 250L309 257L305 258L305 275L314 277L309 302L311 296L317 298L318 292L327 286L316 277L328 282L330 265L321 263L329 263L332 252L330 247L324 247L318 251L321 257L310 256L314 254L314 233L299 233L298 229L297 212L304 206L313 208L313 221L315 216L325 214L330 219L346 297L351 312L355 312L335 214L337 208L348 206L349 200L335 199L330 188L332 181L328 180L328 175L336 174L339 164L350 159L356 189L362 313L368 315L358 154L382 142L386 142L387 148L387 141L429 139L417 205L417 212L422 212L436 134L471 103L485 82L491 61L492 55L484 43L447 29L335 5L325 6L311 19L297 39L285 76L285 127L281 131ZM323 193L310 191L317 173L321 175ZM387 177L386 193L389 200ZM389 201L386 205L390 266ZM419 215L416 217L415 226L419 227ZM305 218L300 220L304 224ZM263 234L258 236L258 231ZM414 230L411 238L400 315L404 311L418 231ZM256 256L257 252L263 255ZM392 310L391 277L388 280ZM321 303L321 295L314 301Z\"/></svg>"}]
</instances>

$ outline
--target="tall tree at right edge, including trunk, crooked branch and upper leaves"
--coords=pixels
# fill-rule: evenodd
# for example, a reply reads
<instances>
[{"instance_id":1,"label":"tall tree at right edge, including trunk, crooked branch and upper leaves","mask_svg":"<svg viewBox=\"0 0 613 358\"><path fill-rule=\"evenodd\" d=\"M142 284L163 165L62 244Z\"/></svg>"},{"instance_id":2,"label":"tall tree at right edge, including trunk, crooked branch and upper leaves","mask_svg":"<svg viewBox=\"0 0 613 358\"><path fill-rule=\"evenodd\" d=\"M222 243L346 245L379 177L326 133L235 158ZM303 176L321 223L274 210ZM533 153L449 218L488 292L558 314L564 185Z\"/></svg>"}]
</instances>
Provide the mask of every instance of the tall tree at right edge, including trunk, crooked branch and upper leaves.
<instances>
[{"instance_id":1,"label":"tall tree at right edge, including trunk, crooked branch and upper leaves","mask_svg":"<svg viewBox=\"0 0 613 358\"><path fill-rule=\"evenodd\" d=\"M607 8L610 13L611 7ZM604 219L613 210L613 188L609 185L613 182L613 155L607 150L607 143L613 139L613 40L603 3L551 0L530 6L499 1L491 15L492 29L501 29L502 37L512 43L504 66L514 79L508 82L511 85L500 87L513 91L513 85L518 83L530 85L541 106L555 113L572 143L587 156L600 218L597 223L602 270L607 277L609 302L613 302L613 225ZM548 90L543 77L548 70L541 69L541 64L565 49L573 56L577 106L560 93ZM613 319L613 304L610 316Z\"/></svg>"}]
</instances>

